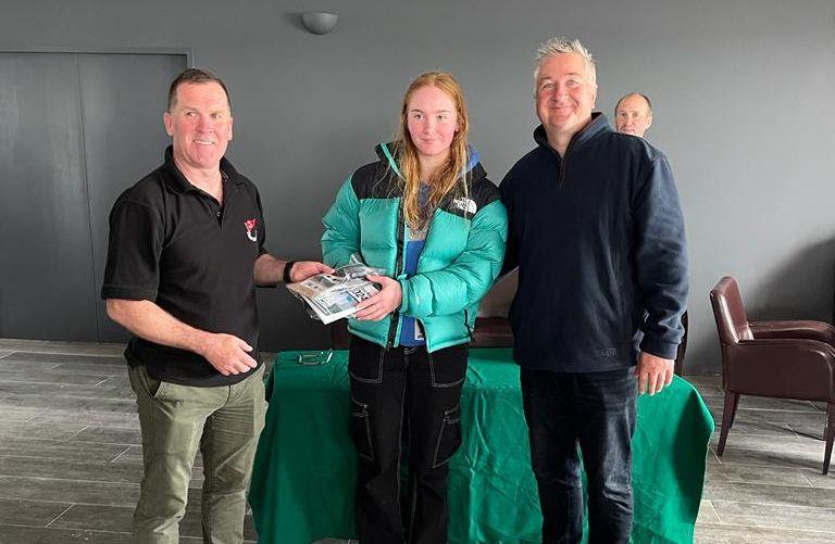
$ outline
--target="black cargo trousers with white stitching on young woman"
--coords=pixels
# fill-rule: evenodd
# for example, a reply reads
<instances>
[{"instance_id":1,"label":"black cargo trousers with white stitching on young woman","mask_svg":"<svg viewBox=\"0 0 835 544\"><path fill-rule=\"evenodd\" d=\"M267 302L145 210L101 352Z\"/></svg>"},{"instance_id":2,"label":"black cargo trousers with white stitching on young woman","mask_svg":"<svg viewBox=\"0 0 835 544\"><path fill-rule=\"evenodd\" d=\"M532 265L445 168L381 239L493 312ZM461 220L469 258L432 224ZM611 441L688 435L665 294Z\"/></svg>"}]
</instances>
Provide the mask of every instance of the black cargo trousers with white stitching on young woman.
<instances>
[{"instance_id":1,"label":"black cargo trousers with white stitching on young woman","mask_svg":"<svg viewBox=\"0 0 835 544\"><path fill-rule=\"evenodd\" d=\"M429 353L351 337L350 431L359 454L361 544L447 542L448 461L461 445L466 357L468 344Z\"/></svg>"}]
</instances>

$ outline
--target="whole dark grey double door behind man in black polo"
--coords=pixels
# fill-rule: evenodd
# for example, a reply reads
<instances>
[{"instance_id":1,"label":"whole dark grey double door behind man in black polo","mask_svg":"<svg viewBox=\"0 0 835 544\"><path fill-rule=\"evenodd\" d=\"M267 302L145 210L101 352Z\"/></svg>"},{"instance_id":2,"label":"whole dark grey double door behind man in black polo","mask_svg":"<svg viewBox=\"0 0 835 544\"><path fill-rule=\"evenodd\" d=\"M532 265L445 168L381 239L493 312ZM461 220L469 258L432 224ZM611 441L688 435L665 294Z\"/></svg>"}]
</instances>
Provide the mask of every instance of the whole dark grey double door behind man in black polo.
<instances>
[{"instance_id":1,"label":"whole dark grey double door behind man in black polo","mask_svg":"<svg viewBox=\"0 0 835 544\"><path fill-rule=\"evenodd\" d=\"M108 213L162 161L185 55L0 53L0 338L122 340L99 301Z\"/></svg>"}]
</instances>

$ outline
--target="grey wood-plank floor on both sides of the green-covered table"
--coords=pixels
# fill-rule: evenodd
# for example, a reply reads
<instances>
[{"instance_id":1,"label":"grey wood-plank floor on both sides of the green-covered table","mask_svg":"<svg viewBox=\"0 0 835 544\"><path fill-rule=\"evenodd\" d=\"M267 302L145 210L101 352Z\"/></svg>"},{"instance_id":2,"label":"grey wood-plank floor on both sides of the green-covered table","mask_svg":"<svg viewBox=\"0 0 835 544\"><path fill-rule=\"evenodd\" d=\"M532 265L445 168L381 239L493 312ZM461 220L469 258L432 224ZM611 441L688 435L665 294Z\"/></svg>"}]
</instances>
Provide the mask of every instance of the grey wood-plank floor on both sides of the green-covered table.
<instances>
[{"instance_id":1,"label":"grey wood-plank floor on both sides of the green-covered table","mask_svg":"<svg viewBox=\"0 0 835 544\"><path fill-rule=\"evenodd\" d=\"M0 544L130 542L141 441L121 352L0 340ZM719 425L719 378L688 379ZM719 428L712 439L697 543L835 542L835 470L821 476L823 409L743 397L721 460ZM201 481L198 459L182 542L202 541ZM257 540L249 516L246 537Z\"/></svg>"}]
</instances>

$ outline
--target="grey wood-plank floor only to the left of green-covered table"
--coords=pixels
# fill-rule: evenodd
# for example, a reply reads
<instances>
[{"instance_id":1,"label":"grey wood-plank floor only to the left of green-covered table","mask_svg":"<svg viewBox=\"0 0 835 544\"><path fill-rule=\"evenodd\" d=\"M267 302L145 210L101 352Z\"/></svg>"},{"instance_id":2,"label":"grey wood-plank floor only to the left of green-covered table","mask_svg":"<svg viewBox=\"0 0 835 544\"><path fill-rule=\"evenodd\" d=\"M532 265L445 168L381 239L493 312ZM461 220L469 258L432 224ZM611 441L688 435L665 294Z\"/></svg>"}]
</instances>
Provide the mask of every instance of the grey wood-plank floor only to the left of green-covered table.
<instances>
[{"instance_id":1,"label":"grey wood-plank floor only to the left of green-covered table","mask_svg":"<svg viewBox=\"0 0 835 544\"><path fill-rule=\"evenodd\" d=\"M0 544L129 543L141 463L122 346L0 340ZM195 465L180 542L202 542Z\"/></svg>"}]
</instances>

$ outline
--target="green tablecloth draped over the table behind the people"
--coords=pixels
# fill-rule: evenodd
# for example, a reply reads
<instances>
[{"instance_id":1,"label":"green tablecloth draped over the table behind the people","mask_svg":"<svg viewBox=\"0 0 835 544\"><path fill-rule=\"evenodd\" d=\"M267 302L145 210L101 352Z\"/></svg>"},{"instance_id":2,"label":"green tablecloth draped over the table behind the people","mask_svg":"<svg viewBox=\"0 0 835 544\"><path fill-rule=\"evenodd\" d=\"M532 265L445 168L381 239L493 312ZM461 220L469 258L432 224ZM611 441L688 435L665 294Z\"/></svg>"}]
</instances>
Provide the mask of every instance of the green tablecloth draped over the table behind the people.
<instances>
[{"instance_id":1,"label":"green tablecloth draped over the table behind the people","mask_svg":"<svg viewBox=\"0 0 835 544\"><path fill-rule=\"evenodd\" d=\"M347 352L321 366L278 354L256 455L250 504L261 543L350 537L357 457L348 435ZM474 349L461 400L463 445L450 461L449 542L539 542L519 367L507 349ZM635 543L693 541L713 419L675 378L638 398Z\"/></svg>"}]
</instances>

